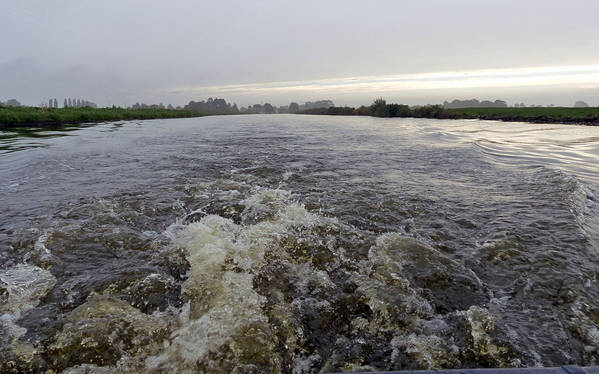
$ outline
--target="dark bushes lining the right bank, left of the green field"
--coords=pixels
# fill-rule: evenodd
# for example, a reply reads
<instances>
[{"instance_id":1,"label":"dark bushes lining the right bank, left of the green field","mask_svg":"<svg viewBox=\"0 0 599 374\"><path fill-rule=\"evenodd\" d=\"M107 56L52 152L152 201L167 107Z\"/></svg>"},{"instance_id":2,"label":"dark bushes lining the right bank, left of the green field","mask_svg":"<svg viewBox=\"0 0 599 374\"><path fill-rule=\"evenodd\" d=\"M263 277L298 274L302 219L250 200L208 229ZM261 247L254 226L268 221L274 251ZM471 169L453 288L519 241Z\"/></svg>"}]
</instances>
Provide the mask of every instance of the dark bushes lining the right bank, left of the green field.
<instances>
[{"instance_id":1,"label":"dark bushes lining the right bank, left of the green field","mask_svg":"<svg viewBox=\"0 0 599 374\"><path fill-rule=\"evenodd\" d=\"M370 106L314 108L299 112L300 114L373 116L373 117L416 117L416 118L457 118L457 116L441 105L422 105L410 107L403 104L387 104L384 99L376 99Z\"/></svg>"}]
</instances>

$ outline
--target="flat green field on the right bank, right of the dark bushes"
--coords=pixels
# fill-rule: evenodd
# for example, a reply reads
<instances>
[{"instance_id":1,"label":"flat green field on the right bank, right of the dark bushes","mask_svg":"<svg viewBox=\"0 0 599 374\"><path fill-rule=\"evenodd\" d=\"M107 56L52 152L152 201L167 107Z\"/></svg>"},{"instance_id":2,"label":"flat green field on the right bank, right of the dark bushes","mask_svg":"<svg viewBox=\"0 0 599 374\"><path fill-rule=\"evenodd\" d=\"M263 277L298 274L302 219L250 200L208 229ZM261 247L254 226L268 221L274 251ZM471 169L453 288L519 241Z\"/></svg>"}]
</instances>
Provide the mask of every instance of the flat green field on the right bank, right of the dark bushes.
<instances>
[{"instance_id":1,"label":"flat green field on the right bank, right of the dark bushes","mask_svg":"<svg viewBox=\"0 0 599 374\"><path fill-rule=\"evenodd\" d=\"M599 125L599 107L592 108L464 108L446 109L457 118Z\"/></svg>"}]
</instances>

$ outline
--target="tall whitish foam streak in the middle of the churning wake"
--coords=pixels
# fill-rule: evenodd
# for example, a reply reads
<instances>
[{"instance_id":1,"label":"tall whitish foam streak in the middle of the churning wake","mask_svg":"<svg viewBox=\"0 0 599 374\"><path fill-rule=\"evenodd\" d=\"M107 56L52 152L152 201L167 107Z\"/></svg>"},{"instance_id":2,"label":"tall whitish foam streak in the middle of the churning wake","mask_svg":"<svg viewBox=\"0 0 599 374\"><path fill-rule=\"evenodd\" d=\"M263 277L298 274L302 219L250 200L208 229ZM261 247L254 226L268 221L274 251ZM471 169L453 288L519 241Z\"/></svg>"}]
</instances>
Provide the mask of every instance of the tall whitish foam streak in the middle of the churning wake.
<instances>
[{"instance_id":1,"label":"tall whitish foam streak in the middle of the churning wake","mask_svg":"<svg viewBox=\"0 0 599 374\"><path fill-rule=\"evenodd\" d=\"M254 290L254 276L264 264L264 254L276 250L277 240L292 228L318 221L303 206L290 202L290 196L283 190L260 190L244 200L246 209L271 214L271 219L253 225L208 215L199 222L169 227L173 245L188 252L191 272L182 285L187 303L164 351L145 360L148 369L191 370L210 353L234 344L240 334L244 344L255 339L268 351L269 343L263 339L272 333L262 311L266 299ZM330 282L324 272L318 278Z\"/></svg>"}]
</instances>

